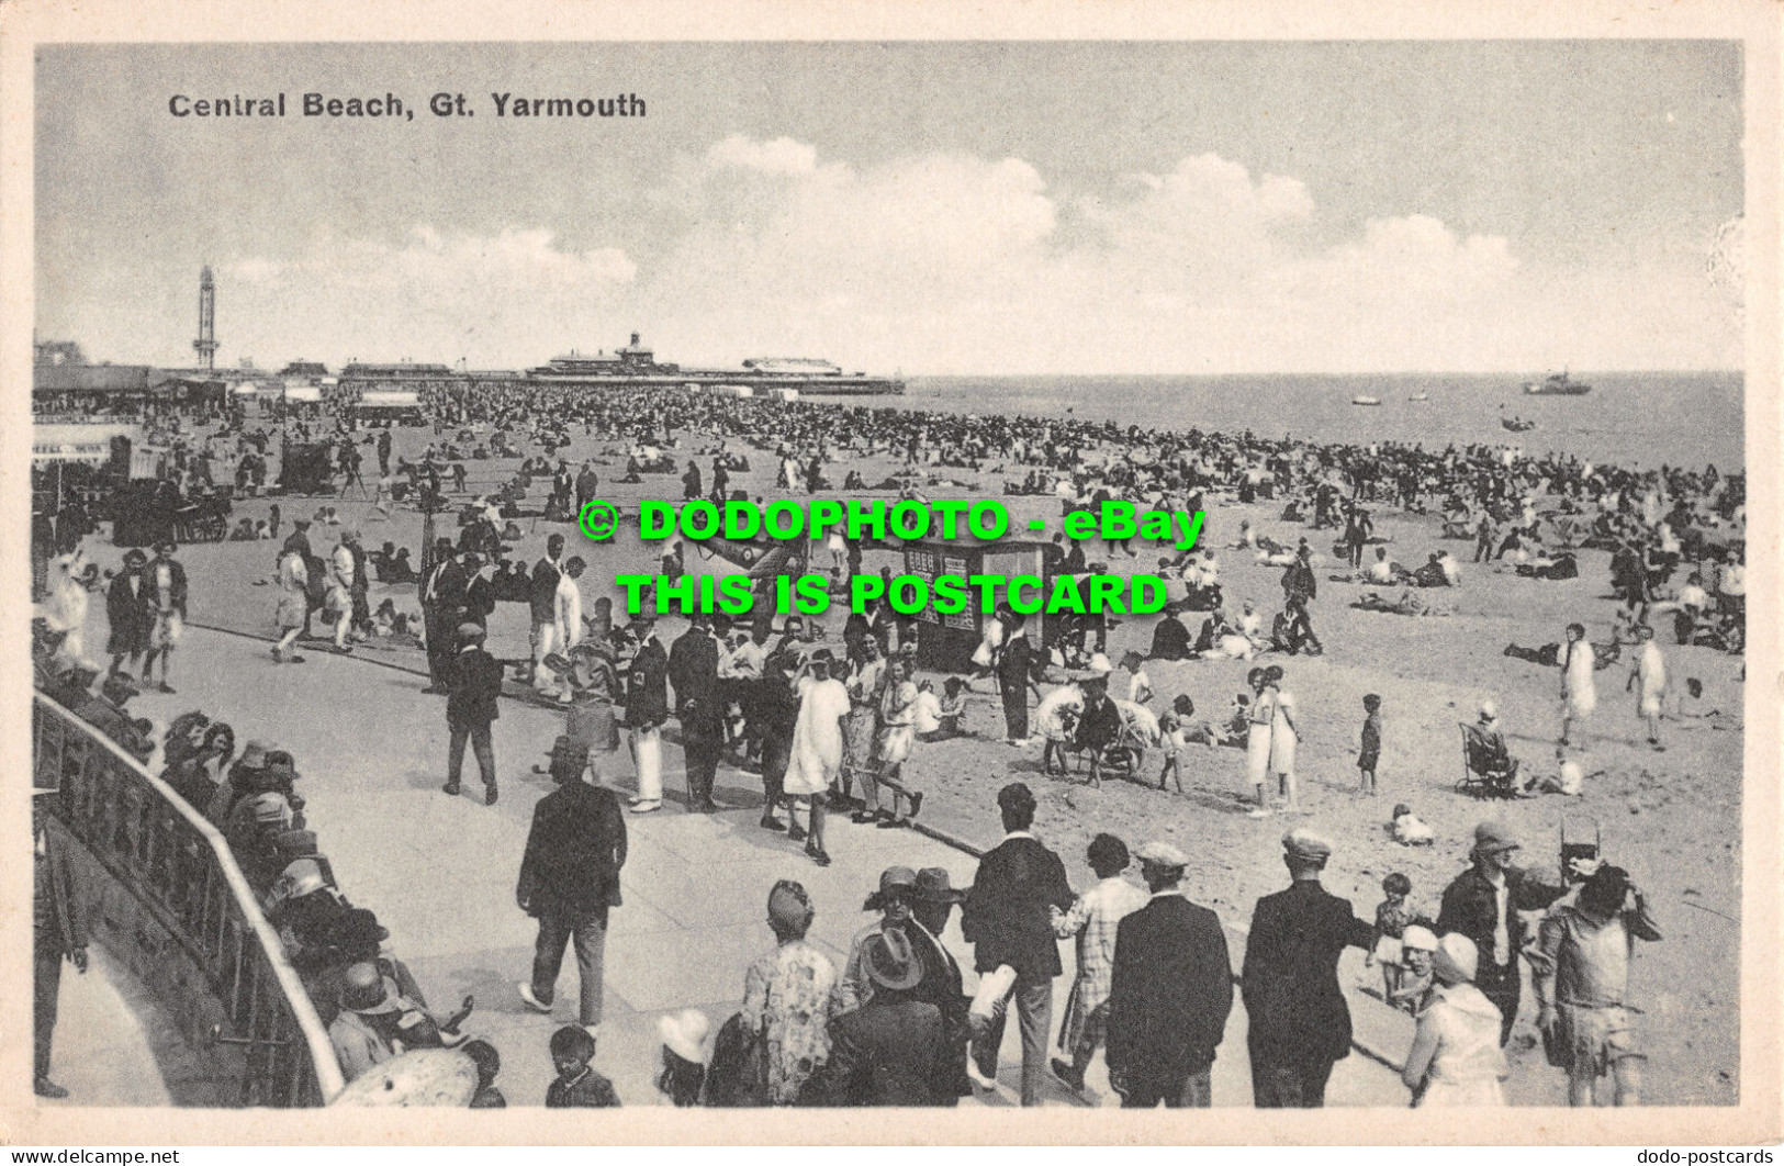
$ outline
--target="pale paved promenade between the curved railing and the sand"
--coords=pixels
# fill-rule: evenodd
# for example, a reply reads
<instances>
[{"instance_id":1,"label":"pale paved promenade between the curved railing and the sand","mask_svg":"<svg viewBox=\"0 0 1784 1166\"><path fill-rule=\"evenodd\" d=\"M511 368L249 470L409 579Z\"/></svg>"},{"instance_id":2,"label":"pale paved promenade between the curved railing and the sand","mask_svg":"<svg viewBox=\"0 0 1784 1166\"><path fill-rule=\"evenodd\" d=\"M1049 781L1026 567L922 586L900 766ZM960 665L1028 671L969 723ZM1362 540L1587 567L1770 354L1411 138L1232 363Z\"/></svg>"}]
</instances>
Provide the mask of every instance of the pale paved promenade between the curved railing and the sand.
<instances>
[{"instance_id":1,"label":"pale paved promenade between the curved railing and the sand","mask_svg":"<svg viewBox=\"0 0 1784 1166\"><path fill-rule=\"evenodd\" d=\"M532 768L544 765L562 715L526 701L503 701L494 726L501 799L485 808L469 756L466 793L441 792L444 699L421 695L425 679L414 672L325 651L309 651L301 665L275 665L260 640L191 628L173 683L177 695L137 699L141 713L157 726L196 708L228 720L243 743L262 740L296 756L305 813L346 895L378 913L392 948L409 963L435 1013L453 1011L467 993L476 997L466 1029L501 1052L500 1086L508 1104L542 1104L553 1075L549 1034L576 1020L576 972L574 959L566 956L551 1016L521 1002L516 982L530 972L535 925L516 907L514 883L533 806L551 788L551 779ZM735 809L689 815L678 801L685 793L681 751L669 745L664 752L671 801L658 813L628 815L624 906L614 909L607 940L596 1068L612 1077L628 1105L667 1104L653 1086L660 1016L698 1007L717 1031L737 1011L744 970L774 943L765 902L776 879L797 879L812 893L817 906L812 938L840 970L851 938L874 920L862 911L862 900L885 866L942 866L954 886L967 886L978 865L970 854L935 838L833 818L835 863L817 868L785 834L756 825L760 786L753 774L723 768L717 797ZM603 784L623 793L633 788L624 751L599 758L598 765ZM988 847L997 840L972 842ZM1070 870L1074 858L1067 856ZM970 947L960 938L958 913L944 941L962 957L970 991L976 982ZM1229 945L1238 963L1243 936L1229 932ZM1054 986L1054 1031L1072 982L1070 943L1061 943L1061 956L1067 972ZM1354 981L1356 972L1347 979ZM1392 1054L1404 1050L1409 1027L1359 1016L1361 1036L1372 1027L1379 1047ZM64 1047L59 1064L75 1073L82 1055L80 1048ZM1017 1025L1010 1023L997 1093L963 1104L1013 1105L1019 1077L1020 1045ZM1215 1105L1251 1102L1242 1004L1235 1004L1215 1063L1213 1098ZM95 1100L127 1104L123 1096ZM1386 1066L1350 1055L1338 1064L1327 1100L1404 1105L1406 1091ZM1099 1057L1083 1098L1049 1082L1045 1102L1113 1105L1119 1098Z\"/></svg>"}]
</instances>

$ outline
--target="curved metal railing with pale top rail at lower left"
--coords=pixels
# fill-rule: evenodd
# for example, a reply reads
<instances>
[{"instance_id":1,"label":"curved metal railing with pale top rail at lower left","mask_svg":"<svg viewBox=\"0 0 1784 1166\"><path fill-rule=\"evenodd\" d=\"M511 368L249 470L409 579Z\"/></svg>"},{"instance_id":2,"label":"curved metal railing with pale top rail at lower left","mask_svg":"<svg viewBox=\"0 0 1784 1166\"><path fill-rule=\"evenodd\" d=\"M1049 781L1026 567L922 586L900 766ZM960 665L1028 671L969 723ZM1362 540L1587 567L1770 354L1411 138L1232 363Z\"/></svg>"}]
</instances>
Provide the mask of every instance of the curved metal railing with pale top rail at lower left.
<instances>
[{"instance_id":1,"label":"curved metal railing with pale top rail at lower left","mask_svg":"<svg viewBox=\"0 0 1784 1166\"><path fill-rule=\"evenodd\" d=\"M325 1105L343 1088L328 1031L228 843L164 781L32 694L34 776L55 818L152 913L223 1004L241 1105Z\"/></svg>"}]
</instances>

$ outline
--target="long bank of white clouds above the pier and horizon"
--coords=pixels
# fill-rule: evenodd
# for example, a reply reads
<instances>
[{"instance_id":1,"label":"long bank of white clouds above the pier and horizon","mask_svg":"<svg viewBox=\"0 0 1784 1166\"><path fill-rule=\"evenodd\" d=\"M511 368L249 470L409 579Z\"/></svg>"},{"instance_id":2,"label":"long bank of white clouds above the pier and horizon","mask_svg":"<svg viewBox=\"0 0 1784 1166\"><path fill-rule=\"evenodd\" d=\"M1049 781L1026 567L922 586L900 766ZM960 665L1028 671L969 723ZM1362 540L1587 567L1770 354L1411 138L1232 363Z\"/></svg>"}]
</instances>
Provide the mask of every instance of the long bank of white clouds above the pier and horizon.
<instances>
[{"instance_id":1,"label":"long bank of white clouds above the pier and horizon","mask_svg":"<svg viewBox=\"0 0 1784 1166\"><path fill-rule=\"evenodd\" d=\"M246 301L232 348L332 337L335 358L517 367L639 328L683 364L810 355L904 373L1739 364L1713 241L1697 267L1613 273L1556 271L1416 207L1336 235L1301 180L1211 153L1094 193L1049 189L1022 159L856 168L731 135L651 200L680 226L642 266L546 230L428 226L243 257L225 267Z\"/></svg>"}]
</instances>

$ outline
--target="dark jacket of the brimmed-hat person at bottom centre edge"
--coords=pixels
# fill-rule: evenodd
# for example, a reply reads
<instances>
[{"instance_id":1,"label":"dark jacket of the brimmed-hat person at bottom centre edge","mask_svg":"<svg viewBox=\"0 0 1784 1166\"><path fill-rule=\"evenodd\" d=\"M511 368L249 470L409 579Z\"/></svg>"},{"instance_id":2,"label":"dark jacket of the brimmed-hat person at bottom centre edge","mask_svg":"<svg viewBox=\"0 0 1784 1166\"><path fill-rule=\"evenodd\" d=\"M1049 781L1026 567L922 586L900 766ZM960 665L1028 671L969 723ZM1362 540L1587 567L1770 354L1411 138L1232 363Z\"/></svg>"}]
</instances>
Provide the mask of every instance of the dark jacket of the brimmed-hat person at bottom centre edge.
<instances>
[{"instance_id":1,"label":"dark jacket of the brimmed-hat person at bottom centre edge","mask_svg":"<svg viewBox=\"0 0 1784 1166\"><path fill-rule=\"evenodd\" d=\"M942 1009L876 995L830 1022L831 1102L837 1105L940 1105L951 1095Z\"/></svg>"}]
</instances>

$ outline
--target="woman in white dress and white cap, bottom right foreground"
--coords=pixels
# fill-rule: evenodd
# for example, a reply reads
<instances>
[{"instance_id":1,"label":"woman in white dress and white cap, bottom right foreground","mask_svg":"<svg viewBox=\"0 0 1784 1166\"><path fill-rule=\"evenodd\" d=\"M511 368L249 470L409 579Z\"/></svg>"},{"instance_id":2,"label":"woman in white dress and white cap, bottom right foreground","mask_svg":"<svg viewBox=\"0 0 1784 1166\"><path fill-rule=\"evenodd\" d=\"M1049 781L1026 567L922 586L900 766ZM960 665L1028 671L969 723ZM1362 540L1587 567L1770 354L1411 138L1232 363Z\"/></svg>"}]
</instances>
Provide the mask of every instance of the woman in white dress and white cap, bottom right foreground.
<instances>
[{"instance_id":1,"label":"woman in white dress and white cap, bottom right foreground","mask_svg":"<svg viewBox=\"0 0 1784 1166\"><path fill-rule=\"evenodd\" d=\"M1479 950L1449 934L1431 954L1438 988L1418 1014L1418 1032L1400 1080L1413 1105L1504 1105L1506 1054L1499 1047L1499 1006L1474 986Z\"/></svg>"}]
</instances>

